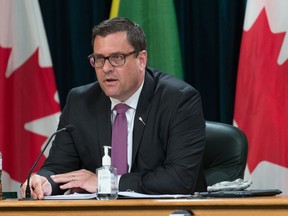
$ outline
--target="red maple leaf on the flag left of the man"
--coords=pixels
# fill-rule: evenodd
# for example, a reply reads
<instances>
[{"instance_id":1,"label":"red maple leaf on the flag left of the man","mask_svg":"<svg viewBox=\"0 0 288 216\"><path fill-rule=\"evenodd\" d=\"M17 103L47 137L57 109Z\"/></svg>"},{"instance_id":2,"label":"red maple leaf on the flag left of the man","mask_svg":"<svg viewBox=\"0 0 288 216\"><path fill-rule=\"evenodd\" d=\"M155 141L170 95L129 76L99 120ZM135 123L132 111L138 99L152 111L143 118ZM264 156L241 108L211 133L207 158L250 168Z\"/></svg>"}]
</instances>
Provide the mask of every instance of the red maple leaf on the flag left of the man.
<instances>
[{"instance_id":1,"label":"red maple leaf on the flag left of the man","mask_svg":"<svg viewBox=\"0 0 288 216\"><path fill-rule=\"evenodd\" d=\"M60 107L54 100L53 68L39 66L38 49L6 78L10 53L0 46L0 148L3 169L23 182L47 139L25 130L24 124L57 113Z\"/></svg>"}]
</instances>

